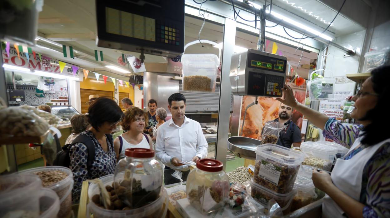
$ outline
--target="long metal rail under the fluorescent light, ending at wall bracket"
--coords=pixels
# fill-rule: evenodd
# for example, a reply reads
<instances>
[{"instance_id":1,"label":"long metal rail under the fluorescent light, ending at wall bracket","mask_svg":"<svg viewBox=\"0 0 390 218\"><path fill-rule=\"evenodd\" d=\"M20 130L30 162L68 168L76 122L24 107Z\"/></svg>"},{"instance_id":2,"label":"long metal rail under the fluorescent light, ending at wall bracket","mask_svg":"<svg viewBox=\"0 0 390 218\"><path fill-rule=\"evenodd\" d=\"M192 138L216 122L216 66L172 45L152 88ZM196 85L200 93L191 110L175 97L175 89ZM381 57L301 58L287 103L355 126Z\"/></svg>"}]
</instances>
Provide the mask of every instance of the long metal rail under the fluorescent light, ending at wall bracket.
<instances>
[{"instance_id":1,"label":"long metal rail under the fluorescent light, ending at wall bracket","mask_svg":"<svg viewBox=\"0 0 390 218\"><path fill-rule=\"evenodd\" d=\"M224 2L225 4L231 5L231 1L229 1L229 0L220 0L220 2ZM254 7L250 7L249 5L245 4L244 2L235 1L234 2L234 6L236 8L238 8L238 9L241 9L241 10L253 13L253 14L255 14L254 11L256 11L257 14L261 13L260 12L261 10L258 10L258 9L254 8ZM288 23L288 22L286 22L286 21L284 21L282 19L279 19L279 18L273 16L272 14L267 14L266 20L271 21L273 23L279 23L279 25L282 26L282 27L289 28L291 30L294 30L295 32L298 32L300 34L303 34L303 35L306 35L306 36L309 36L309 37L317 36L315 34L306 32L306 30L301 28L301 27L294 26L291 23ZM331 46L334 46L335 48L343 50L343 51L345 51L347 53L347 55L351 55L351 56L355 55L354 51L349 50L347 48L344 48L343 46L340 46L337 43L333 43L332 41L328 41L326 39L322 39L321 37L316 37L316 38L313 38L313 39L316 40L316 41L319 41L321 43L324 43L324 44L330 44Z\"/></svg>"}]
</instances>

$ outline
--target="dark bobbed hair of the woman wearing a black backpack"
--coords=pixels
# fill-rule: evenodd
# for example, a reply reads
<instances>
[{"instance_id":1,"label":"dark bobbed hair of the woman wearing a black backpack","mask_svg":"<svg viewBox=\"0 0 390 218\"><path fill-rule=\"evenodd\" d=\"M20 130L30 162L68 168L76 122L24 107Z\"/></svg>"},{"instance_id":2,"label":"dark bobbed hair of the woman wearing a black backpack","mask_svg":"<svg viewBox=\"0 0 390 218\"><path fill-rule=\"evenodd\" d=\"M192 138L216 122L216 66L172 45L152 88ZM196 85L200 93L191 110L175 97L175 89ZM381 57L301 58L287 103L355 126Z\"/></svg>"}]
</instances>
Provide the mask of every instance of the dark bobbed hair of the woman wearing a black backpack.
<instances>
[{"instance_id":1,"label":"dark bobbed hair of the woman wearing a black backpack","mask_svg":"<svg viewBox=\"0 0 390 218\"><path fill-rule=\"evenodd\" d=\"M118 122L122 117L121 108L109 97L98 97L88 108L88 122L97 131L104 122Z\"/></svg>"}]
</instances>

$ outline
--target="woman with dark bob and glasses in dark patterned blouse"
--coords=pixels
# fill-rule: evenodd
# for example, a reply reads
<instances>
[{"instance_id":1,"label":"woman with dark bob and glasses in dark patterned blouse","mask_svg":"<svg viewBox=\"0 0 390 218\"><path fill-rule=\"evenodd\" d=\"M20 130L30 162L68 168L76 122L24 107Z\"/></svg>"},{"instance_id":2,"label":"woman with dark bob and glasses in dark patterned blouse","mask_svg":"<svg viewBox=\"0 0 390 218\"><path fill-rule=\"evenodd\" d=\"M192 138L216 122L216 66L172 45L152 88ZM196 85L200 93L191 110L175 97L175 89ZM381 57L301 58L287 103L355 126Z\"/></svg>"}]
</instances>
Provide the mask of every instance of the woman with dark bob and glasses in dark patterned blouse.
<instances>
[{"instance_id":1,"label":"woman with dark bob and glasses in dark patterned blouse","mask_svg":"<svg viewBox=\"0 0 390 218\"><path fill-rule=\"evenodd\" d=\"M121 120L123 112L115 101L99 97L89 106L87 120L90 128L80 133L69 149L70 166L73 172L73 202L80 199L81 186L87 179L96 179L115 172L117 156L111 133ZM92 158L89 154L94 154Z\"/></svg>"}]
</instances>

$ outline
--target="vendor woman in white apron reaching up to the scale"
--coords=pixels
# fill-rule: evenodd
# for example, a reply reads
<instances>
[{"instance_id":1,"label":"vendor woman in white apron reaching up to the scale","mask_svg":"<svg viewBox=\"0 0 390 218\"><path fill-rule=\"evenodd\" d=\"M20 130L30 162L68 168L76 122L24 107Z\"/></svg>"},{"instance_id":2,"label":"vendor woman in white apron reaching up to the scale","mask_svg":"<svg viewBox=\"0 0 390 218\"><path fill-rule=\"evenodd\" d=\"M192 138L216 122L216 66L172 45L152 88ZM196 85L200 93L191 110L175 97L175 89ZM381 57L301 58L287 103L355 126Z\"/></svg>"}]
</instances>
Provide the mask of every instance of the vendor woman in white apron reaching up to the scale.
<instances>
[{"instance_id":1,"label":"vendor woman in white apron reaching up to the scale","mask_svg":"<svg viewBox=\"0 0 390 218\"><path fill-rule=\"evenodd\" d=\"M389 81L390 66L378 67L353 97L351 117L361 125L341 123L298 103L289 86L283 99L277 99L323 129L324 137L350 147L332 175L313 171L314 185L327 194L323 218L390 217Z\"/></svg>"}]
</instances>

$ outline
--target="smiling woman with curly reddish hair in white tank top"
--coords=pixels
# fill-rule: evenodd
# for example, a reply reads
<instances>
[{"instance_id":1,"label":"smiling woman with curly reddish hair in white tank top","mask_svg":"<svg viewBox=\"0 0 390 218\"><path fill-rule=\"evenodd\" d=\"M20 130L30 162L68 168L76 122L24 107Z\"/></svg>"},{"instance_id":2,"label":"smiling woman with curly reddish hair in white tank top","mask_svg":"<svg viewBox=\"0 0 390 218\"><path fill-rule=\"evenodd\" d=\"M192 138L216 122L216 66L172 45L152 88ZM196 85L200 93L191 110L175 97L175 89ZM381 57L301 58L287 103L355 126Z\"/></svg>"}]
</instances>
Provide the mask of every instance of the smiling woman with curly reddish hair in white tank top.
<instances>
[{"instance_id":1,"label":"smiling woman with curly reddish hair in white tank top","mask_svg":"<svg viewBox=\"0 0 390 218\"><path fill-rule=\"evenodd\" d=\"M124 112L121 126L127 132L114 140L114 149L118 161L125 157L124 152L128 148L152 149L151 137L144 134L146 123L147 114L140 108L132 107Z\"/></svg>"}]
</instances>

